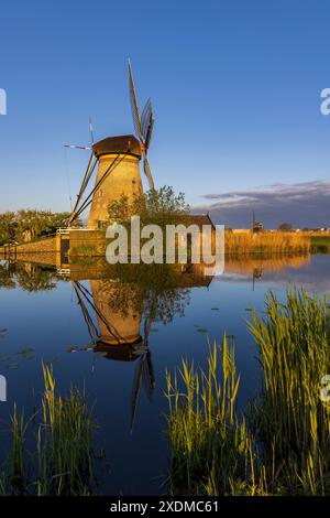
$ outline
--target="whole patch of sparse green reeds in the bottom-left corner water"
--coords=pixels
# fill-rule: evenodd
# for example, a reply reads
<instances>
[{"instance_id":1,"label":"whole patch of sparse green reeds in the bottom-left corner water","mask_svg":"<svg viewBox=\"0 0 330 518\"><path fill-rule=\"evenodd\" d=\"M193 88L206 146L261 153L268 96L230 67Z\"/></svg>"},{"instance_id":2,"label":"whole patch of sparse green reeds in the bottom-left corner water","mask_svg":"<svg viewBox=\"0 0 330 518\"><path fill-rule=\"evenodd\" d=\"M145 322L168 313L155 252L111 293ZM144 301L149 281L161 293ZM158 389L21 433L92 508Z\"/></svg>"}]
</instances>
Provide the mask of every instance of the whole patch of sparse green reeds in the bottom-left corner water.
<instances>
[{"instance_id":1,"label":"whole patch of sparse green reeds in the bottom-left corner water","mask_svg":"<svg viewBox=\"0 0 330 518\"><path fill-rule=\"evenodd\" d=\"M94 422L85 396L72 388L68 397L56 395L51 367L43 367L44 392L40 411L29 421L16 408L11 419L12 450L0 474L4 495L91 495L96 481L92 466ZM26 447L33 431L33 450ZM31 442L31 441L30 441ZM29 442L29 443L30 443Z\"/></svg>"}]
</instances>

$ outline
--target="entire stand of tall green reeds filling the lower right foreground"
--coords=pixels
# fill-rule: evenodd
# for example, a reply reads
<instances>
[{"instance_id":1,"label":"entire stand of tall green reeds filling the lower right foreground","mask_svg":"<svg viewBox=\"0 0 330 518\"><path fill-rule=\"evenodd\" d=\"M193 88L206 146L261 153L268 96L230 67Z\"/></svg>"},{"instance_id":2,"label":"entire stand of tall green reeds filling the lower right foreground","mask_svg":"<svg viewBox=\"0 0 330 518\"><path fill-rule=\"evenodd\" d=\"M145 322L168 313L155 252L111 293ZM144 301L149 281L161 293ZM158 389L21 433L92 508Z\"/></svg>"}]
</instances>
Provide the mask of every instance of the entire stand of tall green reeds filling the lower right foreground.
<instances>
[{"instance_id":1,"label":"entire stand of tall green reeds filling the lower right foreground","mask_svg":"<svg viewBox=\"0 0 330 518\"><path fill-rule=\"evenodd\" d=\"M270 294L265 316L254 313L249 327L264 384L245 416L237 412L240 378L226 338L206 370L184 361L167 374L170 493L329 495L330 403L321 397L329 303L304 291L286 304Z\"/></svg>"}]
</instances>

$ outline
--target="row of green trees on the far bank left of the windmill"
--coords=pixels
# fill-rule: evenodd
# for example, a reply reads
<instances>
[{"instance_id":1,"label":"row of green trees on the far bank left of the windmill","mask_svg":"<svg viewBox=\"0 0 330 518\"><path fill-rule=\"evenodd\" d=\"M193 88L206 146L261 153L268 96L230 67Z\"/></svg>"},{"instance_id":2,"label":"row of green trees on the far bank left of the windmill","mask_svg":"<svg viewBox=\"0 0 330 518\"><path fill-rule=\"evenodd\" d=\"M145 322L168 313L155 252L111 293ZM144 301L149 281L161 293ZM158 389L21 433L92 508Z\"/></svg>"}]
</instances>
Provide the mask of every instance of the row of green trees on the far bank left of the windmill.
<instances>
[{"instance_id":1,"label":"row of green trees on the far bank left of the windmill","mask_svg":"<svg viewBox=\"0 0 330 518\"><path fill-rule=\"evenodd\" d=\"M22 209L0 214L0 246L10 242L32 241L51 236L66 225L69 213ZM80 226L80 222L77 223Z\"/></svg>"}]
</instances>

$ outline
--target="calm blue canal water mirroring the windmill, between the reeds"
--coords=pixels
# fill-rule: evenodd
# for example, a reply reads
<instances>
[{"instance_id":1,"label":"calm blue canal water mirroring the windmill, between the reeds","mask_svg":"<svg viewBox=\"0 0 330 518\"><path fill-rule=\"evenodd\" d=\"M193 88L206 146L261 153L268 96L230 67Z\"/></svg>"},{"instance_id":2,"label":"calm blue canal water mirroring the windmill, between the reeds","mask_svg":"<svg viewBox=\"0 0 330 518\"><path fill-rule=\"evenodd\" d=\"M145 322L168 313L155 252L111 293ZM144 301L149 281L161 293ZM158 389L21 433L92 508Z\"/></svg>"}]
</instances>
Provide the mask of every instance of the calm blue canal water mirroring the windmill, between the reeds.
<instances>
[{"instance_id":1,"label":"calm blue canal water mirroring the windmill, between the reeds","mask_svg":"<svg viewBox=\"0 0 330 518\"><path fill-rule=\"evenodd\" d=\"M244 408L261 382L245 326L249 307L262 311L270 289L284 299L290 282L330 292L329 256L230 260L213 279L166 269L148 277L138 269L108 272L94 265L64 273L0 262L0 374L8 380L0 418L8 420L14 401L33 412L42 361L52 361L61 391L70 384L85 387L96 403L96 453L103 449L107 458L98 476L109 495L165 490L166 368L183 356L204 365L208 341L234 335ZM8 446L2 424L1 455Z\"/></svg>"}]
</instances>

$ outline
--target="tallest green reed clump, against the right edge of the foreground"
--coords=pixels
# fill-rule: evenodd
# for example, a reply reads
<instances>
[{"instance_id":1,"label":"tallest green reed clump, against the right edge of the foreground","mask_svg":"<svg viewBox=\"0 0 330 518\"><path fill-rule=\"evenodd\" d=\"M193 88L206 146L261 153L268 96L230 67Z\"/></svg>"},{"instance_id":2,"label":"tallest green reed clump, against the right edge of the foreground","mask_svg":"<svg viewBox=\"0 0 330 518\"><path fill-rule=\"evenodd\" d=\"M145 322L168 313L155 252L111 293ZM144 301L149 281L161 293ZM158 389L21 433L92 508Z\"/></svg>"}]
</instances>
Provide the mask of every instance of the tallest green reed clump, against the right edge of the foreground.
<instances>
[{"instance_id":1,"label":"tallest green reed clump, against the right edge of the foreground","mask_svg":"<svg viewBox=\"0 0 330 518\"><path fill-rule=\"evenodd\" d=\"M285 304L270 293L266 315L249 327L260 347L264 388L251 409L264 456L289 494L330 494L329 302L293 289Z\"/></svg>"}]
</instances>

